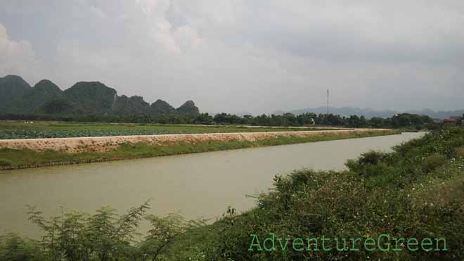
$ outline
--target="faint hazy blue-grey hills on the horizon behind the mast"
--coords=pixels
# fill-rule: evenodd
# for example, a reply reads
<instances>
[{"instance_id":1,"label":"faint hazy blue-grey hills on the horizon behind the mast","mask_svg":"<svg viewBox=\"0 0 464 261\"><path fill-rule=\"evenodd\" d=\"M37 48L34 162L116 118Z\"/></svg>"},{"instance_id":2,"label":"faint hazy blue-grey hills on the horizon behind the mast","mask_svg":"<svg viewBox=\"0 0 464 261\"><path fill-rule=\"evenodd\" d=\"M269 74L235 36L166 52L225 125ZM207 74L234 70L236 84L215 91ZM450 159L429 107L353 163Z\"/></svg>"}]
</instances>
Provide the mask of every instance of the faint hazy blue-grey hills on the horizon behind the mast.
<instances>
[{"instance_id":1,"label":"faint hazy blue-grey hills on the horizon behind the mast","mask_svg":"<svg viewBox=\"0 0 464 261\"><path fill-rule=\"evenodd\" d=\"M326 113L327 107L317 107L317 108L304 108L300 110L290 110L290 111L276 111L274 114L283 114L283 113L293 113L295 115L302 113ZM329 107L329 113L349 116L349 115L364 115L367 119L372 117L392 117L398 113L413 113L418 115L427 115L436 119L445 119L452 116L460 116L464 114L464 110L448 110L448 111L438 111L424 109L424 110L408 110L408 111L397 111L397 110L373 110L372 108L354 108L354 107L342 107L335 108Z\"/></svg>"}]
</instances>

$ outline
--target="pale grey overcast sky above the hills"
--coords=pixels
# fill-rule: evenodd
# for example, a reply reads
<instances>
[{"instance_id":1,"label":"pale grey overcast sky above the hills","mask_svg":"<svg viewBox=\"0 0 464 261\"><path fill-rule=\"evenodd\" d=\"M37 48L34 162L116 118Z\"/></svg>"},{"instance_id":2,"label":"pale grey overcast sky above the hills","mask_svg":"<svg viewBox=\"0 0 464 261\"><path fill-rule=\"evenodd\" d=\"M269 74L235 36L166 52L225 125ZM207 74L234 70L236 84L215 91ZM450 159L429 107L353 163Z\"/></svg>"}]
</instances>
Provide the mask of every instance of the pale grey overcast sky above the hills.
<instances>
[{"instance_id":1,"label":"pale grey overcast sky above the hills","mask_svg":"<svg viewBox=\"0 0 464 261\"><path fill-rule=\"evenodd\" d=\"M464 108L462 0L0 0L0 77L201 112Z\"/></svg>"}]
</instances>

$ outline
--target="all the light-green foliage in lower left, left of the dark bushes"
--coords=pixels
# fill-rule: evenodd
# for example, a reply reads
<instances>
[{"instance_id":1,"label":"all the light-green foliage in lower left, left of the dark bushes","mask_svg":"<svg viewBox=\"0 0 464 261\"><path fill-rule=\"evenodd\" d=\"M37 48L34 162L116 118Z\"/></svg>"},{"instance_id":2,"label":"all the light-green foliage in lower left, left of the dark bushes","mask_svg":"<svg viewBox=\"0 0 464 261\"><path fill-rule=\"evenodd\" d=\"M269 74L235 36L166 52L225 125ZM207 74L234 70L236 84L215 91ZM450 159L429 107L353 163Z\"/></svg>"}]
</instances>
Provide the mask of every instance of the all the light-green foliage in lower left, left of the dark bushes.
<instances>
[{"instance_id":1,"label":"all the light-green foliage in lower left, left of the dark bushes","mask_svg":"<svg viewBox=\"0 0 464 261\"><path fill-rule=\"evenodd\" d=\"M145 215L144 203L126 215L104 207L95 215L67 212L45 219L30 208L30 220L44 232L39 241L15 234L0 238L0 260L162 260L165 250L186 231L204 226L202 220L186 221L179 214L166 217ZM143 241L137 227L141 219L150 223Z\"/></svg>"}]
</instances>

